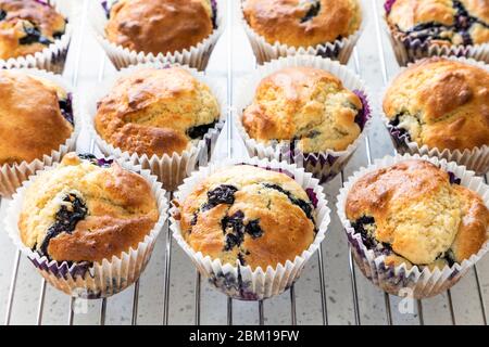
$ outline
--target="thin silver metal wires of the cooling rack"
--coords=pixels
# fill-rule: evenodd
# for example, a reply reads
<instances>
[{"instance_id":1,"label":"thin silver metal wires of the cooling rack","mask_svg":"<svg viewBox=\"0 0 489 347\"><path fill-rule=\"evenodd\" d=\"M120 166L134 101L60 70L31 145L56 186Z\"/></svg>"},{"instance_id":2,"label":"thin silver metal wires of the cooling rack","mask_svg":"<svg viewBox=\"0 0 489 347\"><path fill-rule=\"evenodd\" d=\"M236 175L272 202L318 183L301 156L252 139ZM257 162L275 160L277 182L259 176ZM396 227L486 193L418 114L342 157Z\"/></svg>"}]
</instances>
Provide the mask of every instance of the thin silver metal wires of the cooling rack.
<instances>
[{"instance_id":1,"label":"thin silver metal wires of the cooling rack","mask_svg":"<svg viewBox=\"0 0 489 347\"><path fill-rule=\"evenodd\" d=\"M74 87L78 85L78 75L79 75L79 64L80 59L83 55L82 47L83 47L83 40L84 40L84 33L86 33L86 16L87 16L87 10L88 10L88 2L89 0L84 0L83 2L83 12L82 12L82 21L79 25L78 30L78 40L77 40L77 47L76 47L76 55L75 55L75 64L73 68L72 74L72 83ZM227 136L228 136L228 153L231 156L233 155L233 124L231 124L231 112L233 112L233 91L234 91L234 69L233 69L233 44L234 44L234 38L233 38L233 25L230 23L233 18L233 11L234 5L233 1L228 2L228 31L227 31L227 91L228 91L228 127L227 127ZM380 70L383 76L383 82L384 85L387 83L389 80L389 73L386 64L386 52L385 52L385 43L384 43L384 37L383 37L383 30L380 25L380 17L379 17L379 9L376 0L372 0L372 7L374 9L374 21L375 21L375 35L376 35L376 41L377 41L377 49L379 53L379 63L380 63ZM361 66L361 61L359 56L358 49L354 49L353 51L353 66L358 75L362 76L363 70ZM104 77L104 70L105 70L105 62L106 57L102 53L100 59L100 66L98 72L97 80L100 82ZM93 139L90 140L89 143L89 151L92 153L97 153L98 149L95 144ZM366 155L366 162L367 164L371 164L372 158L372 149L371 149L371 139L369 137L366 137L365 139L365 155ZM344 182L346 172L341 171L340 174L341 178L341 185ZM485 178L486 182L488 181L487 177ZM172 198L172 193L168 193L168 198ZM171 305L171 269L172 269L172 235L168 226L166 224L162 232L162 237L164 237L164 277L163 277L163 310L162 310L162 317L161 322L163 324L170 323L170 305ZM327 241L326 241L327 242ZM350 250L350 249L349 249ZM20 269L20 262L22 260L21 252L16 250L14 253L14 261L13 261L13 268L12 273L10 278L10 285L9 285L9 294L7 299L7 310L5 310L5 324L11 323L11 314L13 309L13 303L14 303L14 296L15 291L17 286L17 274ZM351 297L352 297L352 308L353 308L353 323L354 324L362 324L362 316L361 316L361 309L360 309L360 292L359 292L359 269L356 268L356 265L353 261L352 253L349 252L348 257L348 269L349 269L349 278L350 278L350 287L351 287ZM486 310L486 300L485 300L485 293L481 284L481 280L479 277L478 268L474 267L474 279L475 279L475 285L477 287L477 296L480 305L480 311L482 314L482 323L487 325L487 310ZM327 282L326 282L326 273L325 273L325 267L324 267L324 254L323 254L323 247L319 247L317 253L317 277L318 277L318 283L319 283L319 297L321 297L321 318L322 318L322 324L327 325L329 323L329 316L328 316L328 297L327 297ZM36 316L36 323L42 324L43 319L43 312L45 312L45 298L46 298L46 292L47 292L47 283L42 279L40 284L40 292L39 292L39 299L38 299L38 306L37 306L37 316ZM202 279L198 271L196 271L195 275L195 288L193 288L193 306L195 306L195 312L193 312L193 323L200 324L201 323L201 300L202 300ZM296 325L298 323L298 307L297 307L297 296L296 296L296 288L294 285L291 286L289 293L284 294L289 295L289 303L290 303L290 322L292 325ZM385 322L389 325L393 324L393 317L392 317L392 308L391 308L391 296L387 293L384 293L384 306L385 306ZM140 284L139 281L137 281L134 285L133 291L133 299L131 299L131 313L130 313L130 323L133 325L138 323L138 309L139 309L139 296L140 296ZM74 323L75 319L75 298L66 298L68 300L68 314L67 314L67 324L72 325ZM108 312L108 299L103 298L98 300L99 301L99 319L98 322L101 325L105 324L106 319L106 312ZM265 323L265 308L266 303L264 301L258 301L256 304L256 312L258 312L258 322L259 324L263 325ZM226 300L226 323L231 325L234 323L234 314L236 313L236 310L234 308L234 300L231 298L227 298ZM456 323L455 320L455 310L454 305L452 300L452 294L450 291L447 292L447 305L449 307L450 311L450 321L452 324ZM418 318L418 324L424 325L425 324L425 318L423 312L423 301L417 300L416 301L416 310L417 310L417 318Z\"/></svg>"}]
</instances>

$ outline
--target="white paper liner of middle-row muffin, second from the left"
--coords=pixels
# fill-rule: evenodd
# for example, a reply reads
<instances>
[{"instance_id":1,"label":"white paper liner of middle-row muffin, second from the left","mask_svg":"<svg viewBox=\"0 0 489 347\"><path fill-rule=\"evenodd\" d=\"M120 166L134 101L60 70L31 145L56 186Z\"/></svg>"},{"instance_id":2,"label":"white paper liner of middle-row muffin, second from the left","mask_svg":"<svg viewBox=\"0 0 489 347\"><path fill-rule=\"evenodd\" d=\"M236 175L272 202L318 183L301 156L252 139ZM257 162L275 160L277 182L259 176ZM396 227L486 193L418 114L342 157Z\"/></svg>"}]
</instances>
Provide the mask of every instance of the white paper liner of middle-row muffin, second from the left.
<instances>
[{"instance_id":1,"label":"white paper liner of middle-row muffin, second from the left","mask_svg":"<svg viewBox=\"0 0 489 347\"><path fill-rule=\"evenodd\" d=\"M166 190L173 191L183 182L184 178L193 171L198 164L206 164L206 160L210 157L212 144L217 141L221 129L224 127L224 121L226 119L226 94L221 83L218 83L215 79L210 79L203 73L200 73L195 68L180 66L181 68L190 72L193 77L206 83L211 88L212 93L217 99L221 106L221 116L216 126L213 129L210 129L202 140L198 141L189 150L184 151L181 154L173 153L172 155L164 154L163 156L153 155L149 157L146 154L138 155L137 153L122 151L121 149L114 147L112 144L103 140L97 132L93 125L93 117L97 114L97 102L109 93L118 78L131 75L136 70L145 67L164 68L166 66L168 65L158 62L129 66L122 69L111 78L104 80L85 105L85 113L87 114L85 119L86 128L96 140L102 153L105 155L122 157L134 165L141 165L142 168L150 169L151 174L158 176L159 180L163 182L163 187Z\"/></svg>"}]
</instances>

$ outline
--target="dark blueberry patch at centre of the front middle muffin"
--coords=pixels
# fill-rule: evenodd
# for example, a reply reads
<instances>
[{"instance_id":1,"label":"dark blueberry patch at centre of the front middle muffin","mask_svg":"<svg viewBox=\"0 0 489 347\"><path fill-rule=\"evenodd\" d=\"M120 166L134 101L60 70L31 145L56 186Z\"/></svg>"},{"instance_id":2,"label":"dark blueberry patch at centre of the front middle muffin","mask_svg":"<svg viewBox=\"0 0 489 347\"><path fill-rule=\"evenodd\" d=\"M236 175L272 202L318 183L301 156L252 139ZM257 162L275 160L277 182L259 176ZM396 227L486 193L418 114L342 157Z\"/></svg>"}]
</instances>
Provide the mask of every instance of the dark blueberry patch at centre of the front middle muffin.
<instances>
[{"instance_id":1,"label":"dark blueberry patch at centre of the front middle muffin","mask_svg":"<svg viewBox=\"0 0 489 347\"><path fill-rule=\"evenodd\" d=\"M259 219L250 220L247 224L244 224L243 219L244 214L238 210L221 220L221 227L226 237L224 250L229 252L239 247L244 241L244 234L249 234L252 239L259 239L263 235Z\"/></svg>"}]
</instances>

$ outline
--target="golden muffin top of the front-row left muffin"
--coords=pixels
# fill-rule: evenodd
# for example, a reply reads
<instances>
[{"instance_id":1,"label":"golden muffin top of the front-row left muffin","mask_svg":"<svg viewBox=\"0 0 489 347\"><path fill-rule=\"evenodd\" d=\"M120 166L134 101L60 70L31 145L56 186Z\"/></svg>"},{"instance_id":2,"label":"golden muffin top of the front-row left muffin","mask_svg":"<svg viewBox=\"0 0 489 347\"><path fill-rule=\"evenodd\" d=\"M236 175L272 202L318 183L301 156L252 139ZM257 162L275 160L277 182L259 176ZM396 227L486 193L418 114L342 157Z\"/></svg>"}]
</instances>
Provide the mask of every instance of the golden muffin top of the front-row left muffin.
<instances>
[{"instance_id":1,"label":"golden muffin top of the front-row left muffin","mask_svg":"<svg viewBox=\"0 0 489 347\"><path fill-rule=\"evenodd\" d=\"M150 184L117 163L67 154L26 190L22 242L57 261L102 261L137 248L158 221Z\"/></svg>"}]
</instances>

